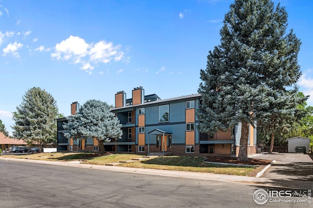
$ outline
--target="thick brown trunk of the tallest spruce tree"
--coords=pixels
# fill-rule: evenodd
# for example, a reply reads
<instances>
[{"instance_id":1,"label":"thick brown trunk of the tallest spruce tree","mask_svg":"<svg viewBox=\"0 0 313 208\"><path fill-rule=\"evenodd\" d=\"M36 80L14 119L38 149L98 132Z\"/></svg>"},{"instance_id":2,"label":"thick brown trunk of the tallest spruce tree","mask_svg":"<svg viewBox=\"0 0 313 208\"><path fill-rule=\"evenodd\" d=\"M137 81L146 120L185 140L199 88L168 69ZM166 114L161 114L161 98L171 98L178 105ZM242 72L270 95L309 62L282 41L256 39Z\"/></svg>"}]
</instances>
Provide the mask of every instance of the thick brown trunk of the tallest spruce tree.
<instances>
[{"instance_id":1,"label":"thick brown trunk of the tallest spruce tree","mask_svg":"<svg viewBox=\"0 0 313 208\"><path fill-rule=\"evenodd\" d=\"M246 121L241 122L241 138L238 160L249 161L248 159L248 137L249 137L249 124Z\"/></svg>"}]
</instances>

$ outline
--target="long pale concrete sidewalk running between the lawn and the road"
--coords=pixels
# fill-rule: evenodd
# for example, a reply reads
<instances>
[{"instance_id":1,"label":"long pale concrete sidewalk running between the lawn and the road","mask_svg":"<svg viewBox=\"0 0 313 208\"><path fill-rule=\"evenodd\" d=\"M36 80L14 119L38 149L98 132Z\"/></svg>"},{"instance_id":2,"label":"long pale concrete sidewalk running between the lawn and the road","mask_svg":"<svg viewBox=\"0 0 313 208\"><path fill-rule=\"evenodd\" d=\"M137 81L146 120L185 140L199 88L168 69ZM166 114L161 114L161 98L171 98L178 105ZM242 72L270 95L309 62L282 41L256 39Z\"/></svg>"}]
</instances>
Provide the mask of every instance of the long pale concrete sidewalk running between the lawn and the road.
<instances>
[{"instance_id":1,"label":"long pale concrete sidewalk running between the lawn and the road","mask_svg":"<svg viewBox=\"0 0 313 208\"><path fill-rule=\"evenodd\" d=\"M256 178L256 177L248 177L248 176L223 175L223 174L213 174L213 173L158 170L158 169L120 167L120 166L101 166L101 165L81 164L77 161L54 162L54 161L41 161L41 160L29 160L29 159L17 159L17 158L1 158L1 157L0 157L0 160L67 166L67 167L68 166L80 167L80 168L88 168L88 169L128 172L128 173L134 173L134 174L148 174L148 175L179 177L179 178L189 178L189 179L199 179L199 180L209 180L209 181L251 183L253 185L270 186L270 187L285 187L285 188L297 188L297 189L299 188L312 189L313 188L312 183L308 183L307 181L284 180L282 178Z\"/></svg>"}]
</instances>

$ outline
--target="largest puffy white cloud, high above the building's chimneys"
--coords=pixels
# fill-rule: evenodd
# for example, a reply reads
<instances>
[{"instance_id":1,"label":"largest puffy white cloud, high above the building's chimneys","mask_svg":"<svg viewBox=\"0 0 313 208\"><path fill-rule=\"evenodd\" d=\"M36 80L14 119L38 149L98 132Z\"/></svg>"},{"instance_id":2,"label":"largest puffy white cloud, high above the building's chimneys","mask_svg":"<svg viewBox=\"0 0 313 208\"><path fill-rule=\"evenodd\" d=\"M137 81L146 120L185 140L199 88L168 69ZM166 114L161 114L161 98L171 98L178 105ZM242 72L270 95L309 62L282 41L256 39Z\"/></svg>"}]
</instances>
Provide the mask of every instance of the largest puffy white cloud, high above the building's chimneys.
<instances>
[{"instance_id":1,"label":"largest puffy white cloud, high above the building's chimneys","mask_svg":"<svg viewBox=\"0 0 313 208\"><path fill-rule=\"evenodd\" d=\"M67 40L57 43L51 57L57 60L66 60L73 64L82 64L80 69L92 70L98 62L109 63L112 60L119 62L124 58L121 45L112 42L99 41L87 43L78 36L70 36Z\"/></svg>"}]
</instances>

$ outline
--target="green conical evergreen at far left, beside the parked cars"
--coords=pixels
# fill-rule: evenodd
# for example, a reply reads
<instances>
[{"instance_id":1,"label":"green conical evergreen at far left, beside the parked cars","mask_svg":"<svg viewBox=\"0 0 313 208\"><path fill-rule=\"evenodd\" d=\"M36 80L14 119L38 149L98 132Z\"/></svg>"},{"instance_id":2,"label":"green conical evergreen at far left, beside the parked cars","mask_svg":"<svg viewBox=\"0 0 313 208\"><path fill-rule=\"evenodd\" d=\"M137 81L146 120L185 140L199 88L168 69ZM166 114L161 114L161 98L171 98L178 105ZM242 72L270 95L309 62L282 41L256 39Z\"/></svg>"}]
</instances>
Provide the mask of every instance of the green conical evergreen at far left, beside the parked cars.
<instances>
[{"instance_id":1,"label":"green conical evergreen at far left, beside the parked cars","mask_svg":"<svg viewBox=\"0 0 313 208\"><path fill-rule=\"evenodd\" d=\"M13 136L29 144L45 147L56 140L56 101L40 87L33 87L22 97L22 103L13 112Z\"/></svg>"}]
</instances>

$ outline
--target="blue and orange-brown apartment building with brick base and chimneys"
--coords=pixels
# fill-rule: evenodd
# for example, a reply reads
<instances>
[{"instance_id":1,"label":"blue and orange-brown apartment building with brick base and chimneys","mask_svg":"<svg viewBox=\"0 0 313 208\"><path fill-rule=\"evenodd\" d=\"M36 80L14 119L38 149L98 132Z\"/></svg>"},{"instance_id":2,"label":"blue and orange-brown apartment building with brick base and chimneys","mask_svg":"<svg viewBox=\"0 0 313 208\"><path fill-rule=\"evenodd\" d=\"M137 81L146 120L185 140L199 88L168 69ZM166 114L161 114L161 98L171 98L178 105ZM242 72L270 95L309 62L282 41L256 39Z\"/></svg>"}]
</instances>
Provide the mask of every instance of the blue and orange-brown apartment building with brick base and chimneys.
<instances>
[{"instance_id":1,"label":"blue and orange-brown apartment building with brick base and chimneys","mask_svg":"<svg viewBox=\"0 0 313 208\"><path fill-rule=\"evenodd\" d=\"M111 152L139 154L238 155L241 124L226 132L215 134L199 132L196 127L199 124L196 116L199 102L201 102L200 94L161 100L156 94L145 96L144 89L136 87L132 91L132 98L127 99L126 93L119 91L115 94L115 107L112 108L112 112L122 124L123 135L110 143L104 143L105 149ZM58 123L66 120L66 118L58 119ZM83 150L83 146L80 145L84 142L77 143L72 140L67 142L62 137L61 129L62 126L59 128L58 125L58 142L62 142L59 150L61 146L67 151ZM96 141L96 139L85 140L85 150L97 150ZM88 144L93 148L87 148ZM251 126L248 153L255 152L256 128Z\"/></svg>"}]
</instances>

